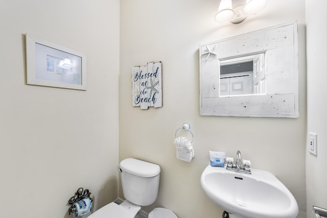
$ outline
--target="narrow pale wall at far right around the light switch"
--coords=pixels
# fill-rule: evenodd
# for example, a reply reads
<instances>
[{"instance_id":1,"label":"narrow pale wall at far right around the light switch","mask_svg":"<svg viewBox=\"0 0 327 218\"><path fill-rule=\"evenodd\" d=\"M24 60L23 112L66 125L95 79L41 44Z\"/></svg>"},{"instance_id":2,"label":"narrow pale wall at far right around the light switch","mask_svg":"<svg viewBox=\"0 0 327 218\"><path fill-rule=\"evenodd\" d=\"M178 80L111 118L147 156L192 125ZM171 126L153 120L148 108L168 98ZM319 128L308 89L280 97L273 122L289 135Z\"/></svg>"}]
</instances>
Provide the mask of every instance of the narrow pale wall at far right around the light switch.
<instances>
[{"instance_id":1,"label":"narrow pale wall at far right around the light switch","mask_svg":"<svg viewBox=\"0 0 327 218\"><path fill-rule=\"evenodd\" d=\"M318 134L317 156L306 152L307 213L312 206L327 209L327 134L325 81L327 80L327 2L306 0L308 57L308 132Z\"/></svg>"}]
</instances>

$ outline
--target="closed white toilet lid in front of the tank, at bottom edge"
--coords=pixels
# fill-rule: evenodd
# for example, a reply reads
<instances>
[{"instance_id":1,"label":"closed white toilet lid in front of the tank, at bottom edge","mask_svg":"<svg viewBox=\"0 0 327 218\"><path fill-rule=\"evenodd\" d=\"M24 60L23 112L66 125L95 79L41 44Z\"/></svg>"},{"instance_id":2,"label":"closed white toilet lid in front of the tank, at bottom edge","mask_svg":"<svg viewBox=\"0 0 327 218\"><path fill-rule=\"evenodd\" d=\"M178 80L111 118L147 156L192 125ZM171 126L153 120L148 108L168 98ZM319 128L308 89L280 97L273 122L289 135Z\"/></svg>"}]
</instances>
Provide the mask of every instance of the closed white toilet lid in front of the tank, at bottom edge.
<instances>
[{"instance_id":1,"label":"closed white toilet lid in front of the tank, at bottom edge","mask_svg":"<svg viewBox=\"0 0 327 218\"><path fill-rule=\"evenodd\" d=\"M99 210L95 211L89 218L134 218L135 214L124 207L119 206L118 204L111 202L106 206L101 207Z\"/></svg>"}]
</instances>

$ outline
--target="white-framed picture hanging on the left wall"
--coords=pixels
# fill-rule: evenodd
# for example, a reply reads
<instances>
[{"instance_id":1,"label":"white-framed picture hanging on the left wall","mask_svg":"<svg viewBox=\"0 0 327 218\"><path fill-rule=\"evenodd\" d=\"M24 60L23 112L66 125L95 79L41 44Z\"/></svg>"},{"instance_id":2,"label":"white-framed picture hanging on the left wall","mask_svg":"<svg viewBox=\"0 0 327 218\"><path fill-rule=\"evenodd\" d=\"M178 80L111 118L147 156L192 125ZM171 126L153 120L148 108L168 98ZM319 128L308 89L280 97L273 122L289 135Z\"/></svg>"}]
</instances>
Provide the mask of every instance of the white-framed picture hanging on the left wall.
<instances>
[{"instance_id":1,"label":"white-framed picture hanging on the left wall","mask_svg":"<svg viewBox=\"0 0 327 218\"><path fill-rule=\"evenodd\" d=\"M86 55L26 34L27 84L86 90Z\"/></svg>"}]
</instances>

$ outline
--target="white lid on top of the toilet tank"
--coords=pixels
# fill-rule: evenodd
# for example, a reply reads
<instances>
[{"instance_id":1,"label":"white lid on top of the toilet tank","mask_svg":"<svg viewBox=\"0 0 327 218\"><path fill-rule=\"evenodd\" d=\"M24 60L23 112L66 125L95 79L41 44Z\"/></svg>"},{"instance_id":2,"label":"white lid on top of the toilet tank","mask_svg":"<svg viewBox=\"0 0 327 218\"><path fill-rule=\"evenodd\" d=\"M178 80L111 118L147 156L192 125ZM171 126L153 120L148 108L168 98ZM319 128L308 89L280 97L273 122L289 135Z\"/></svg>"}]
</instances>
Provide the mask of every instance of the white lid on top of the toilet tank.
<instances>
[{"instance_id":1,"label":"white lid on top of the toilet tank","mask_svg":"<svg viewBox=\"0 0 327 218\"><path fill-rule=\"evenodd\" d=\"M140 177L154 177L160 173L160 166L143 160L127 158L121 161L122 171Z\"/></svg>"}]
</instances>

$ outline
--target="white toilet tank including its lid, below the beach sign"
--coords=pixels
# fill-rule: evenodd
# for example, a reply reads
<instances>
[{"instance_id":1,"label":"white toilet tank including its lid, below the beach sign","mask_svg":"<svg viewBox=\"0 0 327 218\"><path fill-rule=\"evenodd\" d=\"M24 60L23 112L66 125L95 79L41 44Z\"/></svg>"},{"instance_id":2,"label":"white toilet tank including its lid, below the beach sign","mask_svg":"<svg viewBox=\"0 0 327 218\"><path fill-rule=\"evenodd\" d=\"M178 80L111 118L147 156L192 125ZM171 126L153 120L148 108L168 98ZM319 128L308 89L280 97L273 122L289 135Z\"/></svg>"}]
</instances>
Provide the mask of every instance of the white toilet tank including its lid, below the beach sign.
<instances>
[{"instance_id":1,"label":"white toilet tank including its lid, below the beach sign","mask_svg":"<svg viewBox=\"0 0 327 218\"><path fill-rule=\"evenodd\" d=\"M119 167L126 200L139 206L148 206L157 199L160 166L127 158L120 162Z\"/></svg>"}]
</instances>

